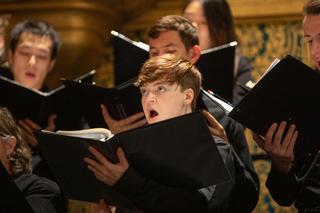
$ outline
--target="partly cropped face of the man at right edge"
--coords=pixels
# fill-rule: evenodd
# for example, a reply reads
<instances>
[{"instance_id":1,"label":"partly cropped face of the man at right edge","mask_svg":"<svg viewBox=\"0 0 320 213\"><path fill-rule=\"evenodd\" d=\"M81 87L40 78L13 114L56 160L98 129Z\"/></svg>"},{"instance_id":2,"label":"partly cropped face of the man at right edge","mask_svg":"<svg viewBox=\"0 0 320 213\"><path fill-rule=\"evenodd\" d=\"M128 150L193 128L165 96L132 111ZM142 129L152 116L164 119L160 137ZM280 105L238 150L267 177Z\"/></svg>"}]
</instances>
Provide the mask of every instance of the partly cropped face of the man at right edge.
<instances>
[{"instance_id":1,"label":"partly cropped face of the man at right edge","mask_svg":"<svg viewBox=\"0 0 320 213\"><path fill-rule=\"evenodd\" d=\"M302 27L304 37L309 44L310 53L320 70L320 14L306 15Z\"/></svg>"}]
</instances>

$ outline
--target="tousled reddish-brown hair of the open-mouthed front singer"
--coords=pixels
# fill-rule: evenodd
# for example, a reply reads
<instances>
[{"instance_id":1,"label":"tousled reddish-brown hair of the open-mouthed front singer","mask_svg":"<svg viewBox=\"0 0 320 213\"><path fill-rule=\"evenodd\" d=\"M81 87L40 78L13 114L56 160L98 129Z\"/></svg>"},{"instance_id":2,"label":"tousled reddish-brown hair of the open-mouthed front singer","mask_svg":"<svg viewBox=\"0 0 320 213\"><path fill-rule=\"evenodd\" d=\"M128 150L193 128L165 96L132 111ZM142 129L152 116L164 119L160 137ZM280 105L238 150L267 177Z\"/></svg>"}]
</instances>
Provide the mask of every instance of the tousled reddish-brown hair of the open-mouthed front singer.
<instances>
[{"instance_id":1,"label":"tousled reddish-brown hair of the open-mouthed front singer","mask_svg":"<svg viewBox=\"0 0 320 213\"><path fill-rule=\"evenodd\" d=\"M158 80L169 84L178 83L181 86L181 92L191 88L194 92L191 109L192 111L196 109L196 100L201 87L201 74L188 60L173 54L153 57L142 66L139 78L134 85L141 87Z\"/></svg>"}]
</instances>

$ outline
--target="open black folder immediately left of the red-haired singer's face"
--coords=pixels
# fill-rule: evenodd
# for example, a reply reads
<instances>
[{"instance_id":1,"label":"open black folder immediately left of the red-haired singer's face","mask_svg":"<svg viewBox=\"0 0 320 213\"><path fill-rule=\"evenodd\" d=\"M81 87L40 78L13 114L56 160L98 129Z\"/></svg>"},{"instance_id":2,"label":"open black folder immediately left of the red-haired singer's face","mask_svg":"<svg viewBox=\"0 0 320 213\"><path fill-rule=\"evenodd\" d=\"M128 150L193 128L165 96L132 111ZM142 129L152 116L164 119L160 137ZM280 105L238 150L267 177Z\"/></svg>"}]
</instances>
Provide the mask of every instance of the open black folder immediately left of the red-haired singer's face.
<instances>
[{"instance_id":1,"label":"open black folder immediately left of the red-haired singer's face","mask_svg":"<svg viewBox=\"0 0 320 213\"><path fill-rule=\"evenodd\" d=\"M92 84L63 80L77 109L90 128L108 128L104 121L101 104L104 104L110 116L121 120L138 112L143 112L140 89L133 85L137 78L112 88Z\"/></svg>"}]
</instances>

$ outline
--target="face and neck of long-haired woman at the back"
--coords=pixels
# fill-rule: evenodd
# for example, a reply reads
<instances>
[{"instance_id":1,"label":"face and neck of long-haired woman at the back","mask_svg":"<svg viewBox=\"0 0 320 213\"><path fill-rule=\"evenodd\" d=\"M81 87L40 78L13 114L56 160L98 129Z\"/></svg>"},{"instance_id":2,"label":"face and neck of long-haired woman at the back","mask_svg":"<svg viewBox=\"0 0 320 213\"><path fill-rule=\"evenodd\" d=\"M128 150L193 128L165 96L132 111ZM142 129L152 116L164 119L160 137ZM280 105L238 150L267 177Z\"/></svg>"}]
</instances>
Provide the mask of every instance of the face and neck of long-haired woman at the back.
<instances>
[{"instance_id":1,"label":"face and neck of long-haired woman at the back","mask_svg":"<svg viewBox=\"0 0 320 213\"><path fill-rule=\"evenodd\" d=\"M212 48L209 26L201 3L199 1L190 2L184 10L183 15L197 27L201 50Z\"/></svg>"}]
</instances>

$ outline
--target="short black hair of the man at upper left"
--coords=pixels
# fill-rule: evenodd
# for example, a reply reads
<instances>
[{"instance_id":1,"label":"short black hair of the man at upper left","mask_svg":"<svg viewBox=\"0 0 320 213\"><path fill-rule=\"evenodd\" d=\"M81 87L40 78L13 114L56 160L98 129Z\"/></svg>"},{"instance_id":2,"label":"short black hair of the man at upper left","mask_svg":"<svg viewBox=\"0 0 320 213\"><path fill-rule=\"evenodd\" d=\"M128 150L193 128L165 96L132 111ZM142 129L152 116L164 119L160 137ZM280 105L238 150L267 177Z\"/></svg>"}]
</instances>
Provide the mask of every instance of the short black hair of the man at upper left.
<instances>
[{"instance_id":1,"label":"short black hair of the man at upper left","mask_svg":"<svg viewBox=\"0 0 320 213\"><path fill-rule=\"evenodd\" d=\"M35 36L48 36L52 40L52 53L51 53L51 60L55 59L57 56L58 49L61 46L60 37L46 22L39 22L39 21L24 21L18 23L11 31L11 46L10 49L14 53L16 46L19 42L20 36L23 32L31 33Z\"/></svg>"}]
</instances>

